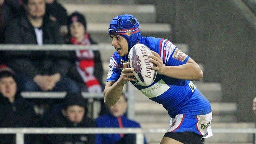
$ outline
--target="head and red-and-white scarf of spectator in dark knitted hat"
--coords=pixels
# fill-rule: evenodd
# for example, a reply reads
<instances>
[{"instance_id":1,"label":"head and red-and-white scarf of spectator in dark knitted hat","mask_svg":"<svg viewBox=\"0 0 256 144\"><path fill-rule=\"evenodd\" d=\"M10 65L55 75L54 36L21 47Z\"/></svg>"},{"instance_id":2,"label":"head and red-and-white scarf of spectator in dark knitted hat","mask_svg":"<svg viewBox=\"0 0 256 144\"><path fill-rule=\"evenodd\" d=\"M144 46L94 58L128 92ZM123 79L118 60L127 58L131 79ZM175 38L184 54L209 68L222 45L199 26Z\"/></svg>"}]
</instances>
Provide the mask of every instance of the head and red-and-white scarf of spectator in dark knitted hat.
<instances>
[{"instance_id":1,"label":"head and red-and-white scarf of spectator in dark knitted hat","mask_svg":"<svg viewBox=\"0 0 256 144\"><path fill-rule=\"evenodd\" d=\"M91 45L96 44L89 33L86 31L85 17L79 13L74 12L68 17L68 37L69 44L74 45ZM83 83L87 86L88 92L102 92L102 62L99 51L93 50L76 50L75 56L76 69L80 73L76 79L82 77ZM75 73L75 72L73 72Z\"/></svg>"}]
</instances>

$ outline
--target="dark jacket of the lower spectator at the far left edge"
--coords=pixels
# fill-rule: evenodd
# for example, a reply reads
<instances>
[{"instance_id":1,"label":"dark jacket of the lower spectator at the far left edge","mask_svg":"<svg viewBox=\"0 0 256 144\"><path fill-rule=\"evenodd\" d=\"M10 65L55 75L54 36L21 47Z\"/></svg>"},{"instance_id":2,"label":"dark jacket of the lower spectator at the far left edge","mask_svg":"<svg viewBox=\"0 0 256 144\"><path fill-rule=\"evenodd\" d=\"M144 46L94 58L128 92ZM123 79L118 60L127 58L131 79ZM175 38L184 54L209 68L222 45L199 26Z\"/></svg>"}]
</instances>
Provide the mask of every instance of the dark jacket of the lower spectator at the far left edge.
<instances>
[{"instance_id":1,"label":"dark jacket of the lower spectator at the far left edge","mask_svg":"<svg viewBox=\"0 0 256 144\"><path fill-rule=\"evenodd\" d=\"M39 121L33 109L33 105L19 95L15 96L14 103L10 103L9 100L0 93L0 127L39 127ZM34 136L25 135L25 144L34 144L36 141ZM0 143L14 144L15 135L1 134Z\"/></svg>"}]
</instances>

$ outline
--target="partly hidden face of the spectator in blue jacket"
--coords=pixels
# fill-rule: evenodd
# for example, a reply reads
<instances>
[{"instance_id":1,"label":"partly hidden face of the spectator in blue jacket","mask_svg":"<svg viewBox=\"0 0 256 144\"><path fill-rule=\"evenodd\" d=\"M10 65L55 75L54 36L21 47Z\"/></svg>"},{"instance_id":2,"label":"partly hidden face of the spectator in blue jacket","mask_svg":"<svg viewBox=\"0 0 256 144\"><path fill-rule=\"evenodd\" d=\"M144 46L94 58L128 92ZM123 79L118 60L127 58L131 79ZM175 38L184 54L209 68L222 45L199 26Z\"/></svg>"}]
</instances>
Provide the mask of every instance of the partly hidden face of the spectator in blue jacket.
<instances>
[{"instance_id":1,"label":"partly hidden face of the spectator in blue jacket","mask_svg":"<svg viewBox=\"0 0 256 144\"><path fill-rule=\"evenodd\" d=\"M124 115L125 111L127 109L127 102L124 99L124 96L121 96L120 99L114 104L112 107L110 107L110 112L113 116L119 117Z\"/></svg>"}]
</instances>

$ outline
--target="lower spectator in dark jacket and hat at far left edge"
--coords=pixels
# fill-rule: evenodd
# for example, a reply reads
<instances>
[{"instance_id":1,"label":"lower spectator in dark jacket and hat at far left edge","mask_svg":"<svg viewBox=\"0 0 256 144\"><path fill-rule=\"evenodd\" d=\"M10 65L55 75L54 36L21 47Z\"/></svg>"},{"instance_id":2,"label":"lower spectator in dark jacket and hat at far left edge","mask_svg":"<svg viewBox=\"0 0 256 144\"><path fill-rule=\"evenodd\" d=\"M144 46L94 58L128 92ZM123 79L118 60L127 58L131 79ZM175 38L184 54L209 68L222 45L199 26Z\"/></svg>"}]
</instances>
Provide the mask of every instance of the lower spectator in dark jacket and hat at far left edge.
<instances>
[{"instance_id":1,"label":"lower spectator in dark jacket and hat at far left edge","mask_svg":"<svg viewBox=\"0 0 256 144\"><path fill-rule=\"evenodd\" d=\"M0 71L0 127L38 127L33 105L17 92L15 75L9 69ZM38 140L38 139L37 139ZM14 144L14 134L1 134L1 144ZM25 144L36 143L35 137L25 135Z\"/></svg>"}]
</instances>

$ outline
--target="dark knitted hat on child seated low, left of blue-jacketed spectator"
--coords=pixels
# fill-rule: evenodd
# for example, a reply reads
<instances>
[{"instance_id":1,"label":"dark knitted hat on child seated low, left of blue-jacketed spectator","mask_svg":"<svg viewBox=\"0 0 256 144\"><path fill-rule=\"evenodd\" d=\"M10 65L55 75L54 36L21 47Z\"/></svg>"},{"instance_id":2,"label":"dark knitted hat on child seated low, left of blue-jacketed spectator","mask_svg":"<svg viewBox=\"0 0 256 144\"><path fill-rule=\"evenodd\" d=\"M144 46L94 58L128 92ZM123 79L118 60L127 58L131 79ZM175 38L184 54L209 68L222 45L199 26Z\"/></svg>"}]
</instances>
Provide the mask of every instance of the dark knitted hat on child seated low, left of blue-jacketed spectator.
<instances>
[{"instance_id":1,"label":"dark knitted hat on child seated low, left of blue-jacketed spectator","mask_svg":"<svg viewBox=\"0 0 256 144\"><path fill-rule=\"evenodd\" d=\"M80 93L67 93L64 98L64 109L69 106L79 105L81 107L86 107L86 102Z\"/></svg>"}]
</instances>

